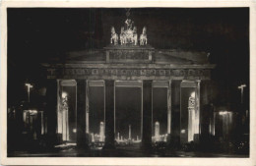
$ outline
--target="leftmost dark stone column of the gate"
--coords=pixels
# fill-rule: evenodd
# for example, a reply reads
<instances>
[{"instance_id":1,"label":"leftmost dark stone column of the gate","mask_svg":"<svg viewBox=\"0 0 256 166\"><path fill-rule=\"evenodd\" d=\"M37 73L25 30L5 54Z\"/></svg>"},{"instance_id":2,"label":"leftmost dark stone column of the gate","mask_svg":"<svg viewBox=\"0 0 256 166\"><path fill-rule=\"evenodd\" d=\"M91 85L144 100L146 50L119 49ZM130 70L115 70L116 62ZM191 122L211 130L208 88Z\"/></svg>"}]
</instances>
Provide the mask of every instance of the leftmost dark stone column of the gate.
<instances>
[{"instance_id":1,"label":"leftmost dark stone column of the gate","mask_svg":"<svg viewBox=\"0 0 256 166\"><path fill-rule=\"evenodd\" d=\"M57 137L57 81L48 80L46 88L47 142L50 146L60 142ZM59 139L60 140L60 139Z\"/></svg>"}]
</instances>

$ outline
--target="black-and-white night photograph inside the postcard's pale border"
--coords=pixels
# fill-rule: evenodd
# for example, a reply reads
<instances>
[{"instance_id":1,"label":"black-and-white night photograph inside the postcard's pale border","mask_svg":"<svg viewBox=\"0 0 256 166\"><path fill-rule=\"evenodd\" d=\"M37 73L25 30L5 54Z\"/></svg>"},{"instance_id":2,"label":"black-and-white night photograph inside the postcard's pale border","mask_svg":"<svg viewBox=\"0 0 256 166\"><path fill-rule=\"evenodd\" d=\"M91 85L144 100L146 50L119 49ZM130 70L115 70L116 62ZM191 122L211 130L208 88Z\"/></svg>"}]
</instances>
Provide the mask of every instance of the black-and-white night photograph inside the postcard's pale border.
<instances>
[{"instance_id":1,"label":"black-and-white night photograph inside the postcard's pale border","mask_svg":"<svg viewBox=\"0 0 256 166\"><path fill-rule=\"evenodd\" d=\"M7 7L6 157L249 158L250 10Z\"/></svg>"}]
</instances>

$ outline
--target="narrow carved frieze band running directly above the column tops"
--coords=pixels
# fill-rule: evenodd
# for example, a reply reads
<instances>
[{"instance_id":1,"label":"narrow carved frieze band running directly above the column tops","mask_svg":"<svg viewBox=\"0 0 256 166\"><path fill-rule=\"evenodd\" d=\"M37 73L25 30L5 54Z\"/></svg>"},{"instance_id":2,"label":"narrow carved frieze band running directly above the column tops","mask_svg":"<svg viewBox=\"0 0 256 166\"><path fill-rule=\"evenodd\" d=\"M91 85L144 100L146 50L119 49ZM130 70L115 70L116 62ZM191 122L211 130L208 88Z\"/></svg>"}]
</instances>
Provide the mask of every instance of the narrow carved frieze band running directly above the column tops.
<instances>
[{"instance_id":1,"label":"narrow carved frieze band running directly above the column tops","mask_svg":"<svg viewBox=\"0 0 256 166\"><path fill-rule=\"evenodd\" d=\"M208 69L48 69L48 76L97 77L210 77Z\"/></svg>"}]
</instances>

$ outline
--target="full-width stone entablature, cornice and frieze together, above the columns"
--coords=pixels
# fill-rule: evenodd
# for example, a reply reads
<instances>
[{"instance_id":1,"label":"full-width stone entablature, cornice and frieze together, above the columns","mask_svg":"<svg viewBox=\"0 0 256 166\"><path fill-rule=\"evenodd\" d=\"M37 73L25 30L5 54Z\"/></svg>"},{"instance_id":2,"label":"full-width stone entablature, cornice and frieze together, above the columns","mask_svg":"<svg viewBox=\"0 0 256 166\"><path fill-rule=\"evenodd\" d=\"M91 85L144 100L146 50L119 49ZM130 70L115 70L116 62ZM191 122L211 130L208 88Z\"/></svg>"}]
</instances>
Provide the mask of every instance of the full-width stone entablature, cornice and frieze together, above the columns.
<instances>
[{"instance_id":1,"label":"full-width stone entablature, cornice and frieze together, above the columns","mask_svg":"<svg viewBox=\"0 0 256 166\"><path fill-rule=\"evenodd\" d=\"M47 79L210 80L215 65L44 64Z\"/></svg>"}]
</instances>

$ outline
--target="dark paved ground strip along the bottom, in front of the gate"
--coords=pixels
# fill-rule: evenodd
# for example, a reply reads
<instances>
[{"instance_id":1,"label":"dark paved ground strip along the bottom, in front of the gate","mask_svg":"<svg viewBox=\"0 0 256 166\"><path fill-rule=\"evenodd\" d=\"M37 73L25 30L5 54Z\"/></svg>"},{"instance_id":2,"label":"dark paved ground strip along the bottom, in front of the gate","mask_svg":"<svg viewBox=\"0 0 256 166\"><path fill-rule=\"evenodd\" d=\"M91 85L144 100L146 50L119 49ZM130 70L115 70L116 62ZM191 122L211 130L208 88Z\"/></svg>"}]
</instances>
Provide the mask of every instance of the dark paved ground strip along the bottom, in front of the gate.
<instances>
[{"instance_id":1,"label":"dark paved ground strip along the bottom, in front of the gate","mask_svg":"<svg viewBox=\"0 0 256 166\"><path fill-rule=\"evenodd\" d=\"M94 149L80 151L75 147L59 149L52 152L16 151L9 155L15 157L248 157L242 154L214 153L201 151L159 151L145 152L137 147L117 147L114 150Z\"/></svg>"}]
</instances>

